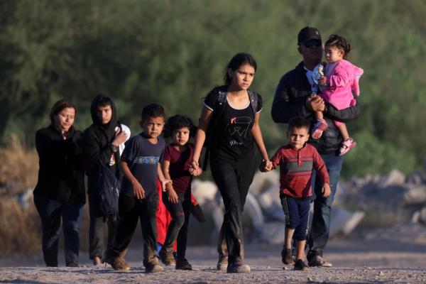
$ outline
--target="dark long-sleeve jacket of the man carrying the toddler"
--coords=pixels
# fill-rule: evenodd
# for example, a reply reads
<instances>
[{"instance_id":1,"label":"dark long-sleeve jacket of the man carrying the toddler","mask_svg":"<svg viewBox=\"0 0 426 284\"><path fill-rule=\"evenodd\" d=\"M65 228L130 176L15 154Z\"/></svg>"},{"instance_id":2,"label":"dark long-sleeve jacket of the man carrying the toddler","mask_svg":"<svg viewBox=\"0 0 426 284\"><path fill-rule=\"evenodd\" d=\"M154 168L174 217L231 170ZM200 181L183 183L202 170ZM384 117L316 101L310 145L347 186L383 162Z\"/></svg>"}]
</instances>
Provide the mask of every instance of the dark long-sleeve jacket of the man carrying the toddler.
<instances>
[{"instance_id":1,"label":"dark long-sleeve jacket of the man carrying the toddler","mask_svg":"<svg viewBox=\"0 0 426 284\"><path fill-rule=\"evenodd\" d=\"M300 62L295 69L281 77L273 98L271 109L273 121L287 124L293 117L300 116L310 120L311 126L315 124L314 113L306 107L306 99L312 94L312 90L303 66L303 62ZM337 153L343 138L332 121L351 121L356 119L359 114L359 102L354 107L341 110L336 109L331 104L326 104L324 119L329 128L322 133L320 139L313 140L311 138L310 143L321 154Z\"/></svg>"}]
</instances>

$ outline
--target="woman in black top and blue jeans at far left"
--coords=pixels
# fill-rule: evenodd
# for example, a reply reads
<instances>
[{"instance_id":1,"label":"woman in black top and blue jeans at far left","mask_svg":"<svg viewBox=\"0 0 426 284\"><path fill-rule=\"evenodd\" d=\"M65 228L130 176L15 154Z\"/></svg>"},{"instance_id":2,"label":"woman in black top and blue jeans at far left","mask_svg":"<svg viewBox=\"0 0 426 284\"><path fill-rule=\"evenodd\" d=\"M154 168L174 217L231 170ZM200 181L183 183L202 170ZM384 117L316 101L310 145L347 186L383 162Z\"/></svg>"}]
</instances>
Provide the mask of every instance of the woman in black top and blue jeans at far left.
<instances>
[{"instance_id":1,"label":"woman in black top and blue jeans at far left","mask_svg":"<svg viewBox=\"0 0 426 284\"><path fill-rule=\"evenodd\" d=\"M40 214L43 257L47 266L58 266L60 222L65 239L65 263L78 266L80 224L84 215L84 170L80 131L73 124L77 109L61 99L50 111L50 125L35 133L38 182L34 203Z\"/></svg>"}]
</instances>

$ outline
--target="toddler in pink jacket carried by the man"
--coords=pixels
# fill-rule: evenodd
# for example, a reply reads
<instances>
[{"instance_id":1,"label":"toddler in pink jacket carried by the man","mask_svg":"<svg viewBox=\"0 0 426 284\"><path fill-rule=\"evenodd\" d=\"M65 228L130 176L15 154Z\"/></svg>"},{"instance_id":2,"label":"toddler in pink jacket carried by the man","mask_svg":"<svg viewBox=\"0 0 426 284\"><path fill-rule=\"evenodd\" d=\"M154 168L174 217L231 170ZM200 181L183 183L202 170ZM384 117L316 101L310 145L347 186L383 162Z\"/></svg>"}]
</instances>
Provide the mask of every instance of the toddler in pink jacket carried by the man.
<instances>
[{"instance_id":1,"label":"toddler in pink jacket carried by the man","mask_svg":"<svg viewBox=\"0 0 426 284\"><path fill-rule=\"evenodd\" d=\"M325 67L325 75L319 80L320 95L325 102L337 109L353 107L356 104L354 94L359 96L359 77L364 70L346 60L350 50L351 45L340 35L330 35L324 46L325 58L329 63ZM315 117L317 124L312 132L312 138L318 139L328 126L322 111L317 111ZM334 121L334 124L344 139L340 148L340 155L344 155L356 146L356 142L350 138L346 124L341 121Z\"/></svg>"}]
</instances>

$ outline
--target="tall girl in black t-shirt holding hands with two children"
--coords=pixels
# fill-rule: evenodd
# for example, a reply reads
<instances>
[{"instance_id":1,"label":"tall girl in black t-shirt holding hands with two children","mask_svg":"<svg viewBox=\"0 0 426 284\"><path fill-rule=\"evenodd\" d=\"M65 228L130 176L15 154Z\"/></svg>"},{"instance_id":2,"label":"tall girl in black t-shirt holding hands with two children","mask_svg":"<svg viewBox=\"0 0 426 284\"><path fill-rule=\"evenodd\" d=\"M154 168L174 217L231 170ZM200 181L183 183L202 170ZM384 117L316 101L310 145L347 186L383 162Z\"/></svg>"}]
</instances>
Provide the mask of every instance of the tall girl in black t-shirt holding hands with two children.
<instances>
[{"instance_id":1,"label":"tall girl in black t-shirt holding hands with two children","mask_svg":"<svg viewBox=\"0 0 426 284\"><path fill-rule=\"evenodd\" d=\"M217 269L226 268L228 273L250 272L250 267L243 263L241 215L256 170L254 143L263 158L261 170L271 168L258 124L262 97L249 90L256 67L256 61L248 53L238 53L231 59L224 77L225 85L214 88L204 99L195 136L194 170L200 166L200 153L209 124L214 123L214 129L209 128L209 135L212 135L209 139L210 168L225 206Z\"/></svg>"}]
</instances>

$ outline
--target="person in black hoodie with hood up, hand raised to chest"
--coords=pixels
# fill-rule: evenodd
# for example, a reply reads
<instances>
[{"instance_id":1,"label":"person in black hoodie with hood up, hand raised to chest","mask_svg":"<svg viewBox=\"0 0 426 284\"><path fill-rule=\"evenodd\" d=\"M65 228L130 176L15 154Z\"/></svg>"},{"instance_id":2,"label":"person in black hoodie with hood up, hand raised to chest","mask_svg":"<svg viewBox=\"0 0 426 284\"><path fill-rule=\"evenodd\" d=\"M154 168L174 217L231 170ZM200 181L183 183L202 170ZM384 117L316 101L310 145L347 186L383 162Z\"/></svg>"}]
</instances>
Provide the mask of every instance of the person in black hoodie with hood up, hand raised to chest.
<instances>
[{"instance_id":1,"label":"person in black hoodie with hood up, hand raised to chest","mask_svg":"<svg viewBox=\"0 0 426 284\"><path fill-rule=\"evenodd\" d=\"M108 225L107 249L111 248L115 225L107 220L101 209L97 191L97 169L99 161L107 165L120 178L119 148L130 134L128 128L119 124L116 107L111 98L97 95L90 106L93 124L84 131L84 158L87 165L87 186L89 187L89 256L94 265L102 263L107 256L104 251L104 226Z\"/></svg>"}]
</instances>

